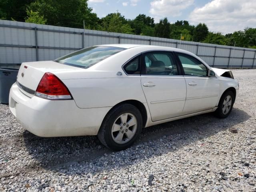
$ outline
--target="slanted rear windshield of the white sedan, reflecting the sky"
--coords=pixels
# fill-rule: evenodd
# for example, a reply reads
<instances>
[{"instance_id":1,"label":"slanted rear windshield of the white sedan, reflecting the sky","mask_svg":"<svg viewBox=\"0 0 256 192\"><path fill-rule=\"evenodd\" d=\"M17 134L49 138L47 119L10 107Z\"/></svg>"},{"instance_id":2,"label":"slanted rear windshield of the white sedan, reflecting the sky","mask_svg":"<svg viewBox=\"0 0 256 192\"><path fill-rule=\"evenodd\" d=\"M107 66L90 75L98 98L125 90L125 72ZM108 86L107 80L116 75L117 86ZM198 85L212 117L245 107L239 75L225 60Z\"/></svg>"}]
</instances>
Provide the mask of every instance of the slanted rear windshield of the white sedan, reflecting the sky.
<instances>
[{"instance_id":1,"label":"slanted rear windshield of the white sedan, reflecting the sky","mask_svg":"<svg viewBox=\"0 0 256 192\"><path fill-rule=\"evenodd\" d=\"M121 52L122 50L125 50L125 48L94 46L94 47L88 47L88 48L84 48L82 50L70 53L54 61L58 63L66 64L66 65L87 69L90 66L93 66L94 64L118 52Z\"/></svg>"}]
</instances>

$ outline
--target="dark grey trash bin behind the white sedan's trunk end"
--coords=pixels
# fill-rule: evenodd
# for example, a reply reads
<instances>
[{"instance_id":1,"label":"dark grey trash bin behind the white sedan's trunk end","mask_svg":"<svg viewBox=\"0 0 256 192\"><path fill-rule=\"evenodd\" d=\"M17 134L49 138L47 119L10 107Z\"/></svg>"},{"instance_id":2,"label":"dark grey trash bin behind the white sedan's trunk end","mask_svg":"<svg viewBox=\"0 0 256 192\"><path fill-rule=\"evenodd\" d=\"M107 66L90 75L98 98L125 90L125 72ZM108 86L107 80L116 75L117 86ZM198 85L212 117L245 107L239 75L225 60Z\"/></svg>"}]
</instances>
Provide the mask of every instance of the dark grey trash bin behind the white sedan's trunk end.
<instances>
[{"instance_id":1,"label":"dark grey trash bin behind the white sedan's trunk end","mask_svg":"<svg viewBox=\"0 0 256 192\"><path fill-rule=\"evenodd\" d=\"M15 68L0 68L0 103L9 103L10 88L16 82L18 71Z\"/></svg>"}]
</instances>

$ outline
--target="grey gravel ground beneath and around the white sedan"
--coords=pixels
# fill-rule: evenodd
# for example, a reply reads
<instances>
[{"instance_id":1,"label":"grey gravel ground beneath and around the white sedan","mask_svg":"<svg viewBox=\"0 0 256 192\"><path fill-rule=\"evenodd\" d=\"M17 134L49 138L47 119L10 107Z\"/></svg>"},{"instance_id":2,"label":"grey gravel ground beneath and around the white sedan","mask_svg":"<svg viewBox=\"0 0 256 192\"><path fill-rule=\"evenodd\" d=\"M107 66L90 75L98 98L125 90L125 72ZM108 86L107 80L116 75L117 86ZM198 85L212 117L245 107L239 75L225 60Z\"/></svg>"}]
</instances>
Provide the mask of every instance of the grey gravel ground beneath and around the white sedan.
<instances>
[{"instance_id":1,"label":"grey gravel ground beneath and around the white sedan","mask_svg":"<svg viewBox=\"0 0 256 192\"><path fill-rule=\"evenodd\" d=\"M145 128L122 152L96 136L34 136L1 104L0 192L256 192L256 70L232 71L240 94L228 118L204 114Z\"/></svg>"}]
</instances>

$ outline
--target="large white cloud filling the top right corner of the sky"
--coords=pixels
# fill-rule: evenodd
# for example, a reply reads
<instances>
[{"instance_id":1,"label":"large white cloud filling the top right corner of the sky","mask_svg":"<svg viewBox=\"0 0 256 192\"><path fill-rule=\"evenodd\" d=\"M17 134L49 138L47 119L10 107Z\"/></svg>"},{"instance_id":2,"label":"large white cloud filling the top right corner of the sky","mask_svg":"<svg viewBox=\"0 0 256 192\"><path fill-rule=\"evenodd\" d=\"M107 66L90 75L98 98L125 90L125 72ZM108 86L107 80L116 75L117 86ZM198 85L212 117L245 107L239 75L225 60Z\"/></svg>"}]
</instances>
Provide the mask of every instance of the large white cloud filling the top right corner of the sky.
<instances>
[{"instance_id":1,"label":"large white cloud filling the top right corner of the sky","mask_svg":"<svg viewBox=\"0 0 256 192\"><path fill-rule=\"evenodd\" d=\"M232 33L256 26L255 0L212 0L189 15L194 24L204 22L210 31Z\"/></svg>"}]
</instances>

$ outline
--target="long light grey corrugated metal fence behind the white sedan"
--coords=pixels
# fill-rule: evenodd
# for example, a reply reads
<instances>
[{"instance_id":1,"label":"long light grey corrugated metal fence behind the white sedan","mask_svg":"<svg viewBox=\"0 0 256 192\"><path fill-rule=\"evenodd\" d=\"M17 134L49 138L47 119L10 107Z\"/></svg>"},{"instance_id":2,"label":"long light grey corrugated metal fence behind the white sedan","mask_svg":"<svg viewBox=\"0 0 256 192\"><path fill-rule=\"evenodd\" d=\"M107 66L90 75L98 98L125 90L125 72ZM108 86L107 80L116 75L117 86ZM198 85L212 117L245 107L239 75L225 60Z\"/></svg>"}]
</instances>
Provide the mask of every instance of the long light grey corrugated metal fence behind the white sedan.
<instances>
[{"instance_id":1,"label":"long light grey corrugated metal fence behind the white sedan","mask_svg":"<svg viewBox=\"0 0 256 192\"><path fill-rule=\"evenodd\" d=\"M148 44L193 52L212 67L256 68L256 49L0 20L0 65L53 60L99 44Z\"/></svg>"}]
</instances>

